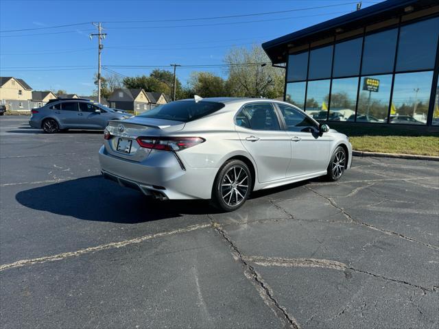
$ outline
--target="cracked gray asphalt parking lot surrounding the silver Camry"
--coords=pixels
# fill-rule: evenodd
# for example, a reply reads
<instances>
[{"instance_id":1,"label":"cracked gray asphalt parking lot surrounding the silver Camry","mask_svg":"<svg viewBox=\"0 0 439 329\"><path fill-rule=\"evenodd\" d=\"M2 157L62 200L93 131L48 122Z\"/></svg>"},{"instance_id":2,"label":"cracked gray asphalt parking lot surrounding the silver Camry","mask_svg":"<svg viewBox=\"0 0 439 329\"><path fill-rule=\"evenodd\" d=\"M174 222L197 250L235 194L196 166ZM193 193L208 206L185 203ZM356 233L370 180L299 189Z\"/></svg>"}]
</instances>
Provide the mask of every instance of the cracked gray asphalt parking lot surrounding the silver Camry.
<instances>
[{"instance_id":1,"label":"cracked gray asphalt parking lot surrounding the silver Camry","mask_svg":"<svg viewBox=\"0 0 439 329\"><path fill-rule=\"evenodd\" d=\"M104 180L102 132L26 123L0 118L1 328L439 326L438 162L354 158L221 214Z\"/></svg>"}]
</instances>

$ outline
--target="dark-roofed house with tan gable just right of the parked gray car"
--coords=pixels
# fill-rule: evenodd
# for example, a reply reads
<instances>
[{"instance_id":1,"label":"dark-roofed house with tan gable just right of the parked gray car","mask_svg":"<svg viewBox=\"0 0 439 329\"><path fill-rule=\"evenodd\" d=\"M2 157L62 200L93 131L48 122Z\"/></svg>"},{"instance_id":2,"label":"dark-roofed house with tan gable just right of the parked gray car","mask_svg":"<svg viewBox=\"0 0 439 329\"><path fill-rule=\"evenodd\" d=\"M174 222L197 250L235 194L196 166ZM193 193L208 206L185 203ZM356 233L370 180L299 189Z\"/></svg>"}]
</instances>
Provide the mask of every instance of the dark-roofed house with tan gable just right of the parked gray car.
<instances>
[{"instance_id":1,"label":"dark-roofed house with tan gable just right of the parked gray car","mask_svg":"<svg viewBox=\"0 0 439 329\"><path fill-rule=\"evenodd\" d=\"M145 112L152 108L147 93L142 88L118 88L113 91L108 102L111 108L133 111L135 113Z\"/></svg>"}]
</instances>

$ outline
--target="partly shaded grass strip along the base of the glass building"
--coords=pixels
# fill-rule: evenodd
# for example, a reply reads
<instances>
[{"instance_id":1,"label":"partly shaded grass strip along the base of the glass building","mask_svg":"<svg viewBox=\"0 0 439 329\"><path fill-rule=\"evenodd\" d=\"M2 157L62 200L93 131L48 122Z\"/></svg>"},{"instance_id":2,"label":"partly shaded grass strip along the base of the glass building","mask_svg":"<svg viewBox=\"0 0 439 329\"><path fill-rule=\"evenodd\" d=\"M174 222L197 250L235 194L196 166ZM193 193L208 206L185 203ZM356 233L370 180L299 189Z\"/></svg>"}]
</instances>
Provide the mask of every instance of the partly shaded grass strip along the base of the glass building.
<instances>
[{"instance_id":1,"label":"partly shaded grass strip along the base of the glass building","mask_svg":"<svg viewBox=\"0 0 439 329\"><path fill-rule=\"evenodd\" d=\"M349 136L353 149L380 153L439 156L439 127L329 123Z\"/></svg>"}]
</instances>

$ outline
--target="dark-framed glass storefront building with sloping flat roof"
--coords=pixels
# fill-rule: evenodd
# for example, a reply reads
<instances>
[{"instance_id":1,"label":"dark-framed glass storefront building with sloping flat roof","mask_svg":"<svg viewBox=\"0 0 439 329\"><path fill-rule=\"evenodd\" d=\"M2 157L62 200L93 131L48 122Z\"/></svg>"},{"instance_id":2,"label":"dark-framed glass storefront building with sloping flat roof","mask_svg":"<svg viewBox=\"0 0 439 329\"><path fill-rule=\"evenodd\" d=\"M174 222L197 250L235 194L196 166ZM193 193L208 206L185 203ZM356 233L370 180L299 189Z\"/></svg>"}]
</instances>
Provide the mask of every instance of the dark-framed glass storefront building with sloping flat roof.
<instances>
[{"instance_id":1,"label":"dark-framed glass storefront building with sloping flat roof","mask_svg":"<svg viewBox=\"0 0 439 329\"><path fill-rule=\"evenodd\" d=\"M265 42L285 101L319 121L438 125L439 5L388 0Z\"/></svg>"}]
</instances>

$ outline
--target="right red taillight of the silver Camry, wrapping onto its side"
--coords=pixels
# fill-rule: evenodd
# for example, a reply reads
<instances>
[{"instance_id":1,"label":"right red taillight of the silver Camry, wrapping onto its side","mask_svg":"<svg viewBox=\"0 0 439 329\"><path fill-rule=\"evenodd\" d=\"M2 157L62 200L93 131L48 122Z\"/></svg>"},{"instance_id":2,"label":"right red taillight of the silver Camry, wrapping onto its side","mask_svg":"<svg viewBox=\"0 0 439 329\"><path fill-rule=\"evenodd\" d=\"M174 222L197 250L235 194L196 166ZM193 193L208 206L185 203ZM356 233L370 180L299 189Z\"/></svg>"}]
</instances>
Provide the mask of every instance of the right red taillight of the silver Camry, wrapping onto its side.
<instances>
[{"instance_id":1,"label":"right red taillight of the silver Camry, wrapping onto its side","mask_svg":"<svg viewBox=\"0 0 439 329\"><path fill-rule=\"evenodd\" d=\"M137 143L145 149L180 151L206 141L201 137L137 137Z\"/></svg>"}]
</instances>

